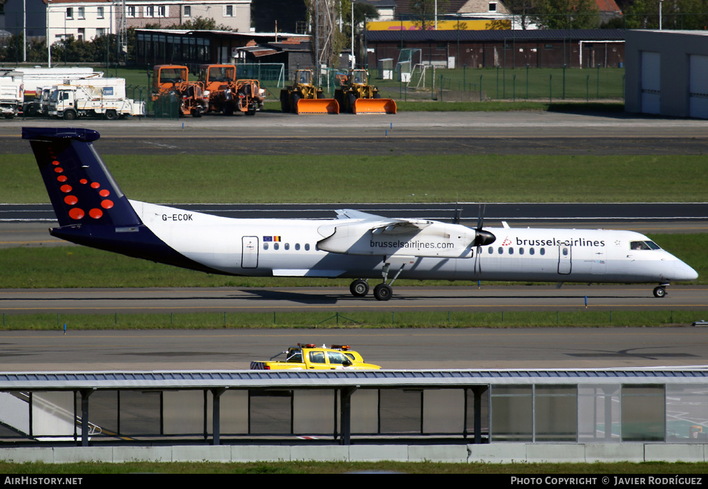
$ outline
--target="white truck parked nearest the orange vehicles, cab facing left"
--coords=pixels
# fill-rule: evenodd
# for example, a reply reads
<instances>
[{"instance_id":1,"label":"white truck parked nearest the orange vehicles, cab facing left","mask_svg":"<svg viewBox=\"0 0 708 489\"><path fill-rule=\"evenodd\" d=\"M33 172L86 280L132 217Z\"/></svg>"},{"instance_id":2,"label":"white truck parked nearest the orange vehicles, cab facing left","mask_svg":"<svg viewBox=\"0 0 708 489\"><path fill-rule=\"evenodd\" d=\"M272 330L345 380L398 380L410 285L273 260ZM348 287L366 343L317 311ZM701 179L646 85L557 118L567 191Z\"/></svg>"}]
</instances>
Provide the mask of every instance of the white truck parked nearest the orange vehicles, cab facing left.
<instances>
[{"instance_id":1,"label":"white truck parked nearest the orange vehicles, cab facing left","mask_svg":"<svg viewBox=\"0 0 708 489\"><path fill-rule=\"evenodd\" d=\"M79 80L52 86L49 116L74 120L99 116L115 120L124 116L144 116L145 103L125 96L125 79Z\"/></svg>"}]
</instances>

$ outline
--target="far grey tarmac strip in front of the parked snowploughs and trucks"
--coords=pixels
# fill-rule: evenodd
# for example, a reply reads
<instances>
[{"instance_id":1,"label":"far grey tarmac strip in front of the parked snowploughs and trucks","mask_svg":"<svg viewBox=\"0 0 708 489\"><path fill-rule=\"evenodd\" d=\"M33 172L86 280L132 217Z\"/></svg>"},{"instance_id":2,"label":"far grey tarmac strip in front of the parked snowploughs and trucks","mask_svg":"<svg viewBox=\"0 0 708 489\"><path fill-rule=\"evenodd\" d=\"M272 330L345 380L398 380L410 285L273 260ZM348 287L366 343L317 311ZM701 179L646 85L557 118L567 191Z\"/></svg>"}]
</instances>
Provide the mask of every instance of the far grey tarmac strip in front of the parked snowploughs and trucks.
<instances>
[{"instance_id":1,"label":"far grey tarmac strip in front of the parked snowploughs and trucks","mask_svg":"<svg viewBox=\"0 0 708 489\"><path fill-rule=\"evenodd\" d=\"M102 154L707 154L708 120L625 113L401 112L396 116L295 116L79 120L98 130ZM25 152L21 128L0 125L0 153Z\"/></svg>"}]
</instances>

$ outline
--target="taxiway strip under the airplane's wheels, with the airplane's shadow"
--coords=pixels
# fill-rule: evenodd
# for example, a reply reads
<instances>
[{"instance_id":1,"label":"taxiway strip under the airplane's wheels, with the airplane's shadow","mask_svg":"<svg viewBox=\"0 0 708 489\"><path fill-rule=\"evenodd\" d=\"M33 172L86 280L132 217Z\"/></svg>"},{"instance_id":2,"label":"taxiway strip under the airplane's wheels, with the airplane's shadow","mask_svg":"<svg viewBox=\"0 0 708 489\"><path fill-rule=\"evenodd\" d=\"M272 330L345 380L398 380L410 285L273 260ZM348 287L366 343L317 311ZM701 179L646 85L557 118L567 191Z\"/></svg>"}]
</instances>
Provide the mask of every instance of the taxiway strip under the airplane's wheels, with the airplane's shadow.
<instances>
[{"instance_id":1,"label":"taxiway strip under the airplane's wheels, with the airplane's shadow","mask_svg":"<svg viewBox=\"0 0 708 489\"><path fill-rule=\"evenodd\" d=\"M708 310L708 286L670 286L655 298L654 285L398 287L388 301L355 298L343 287L6 289L0 312L26 313L272 313L419 312L503 310ZM706 314L697 312L697 315ZM697 317L696 319L701 319ZM355 318L353 318L355 319Z\"/></svg>"}]
</instances>

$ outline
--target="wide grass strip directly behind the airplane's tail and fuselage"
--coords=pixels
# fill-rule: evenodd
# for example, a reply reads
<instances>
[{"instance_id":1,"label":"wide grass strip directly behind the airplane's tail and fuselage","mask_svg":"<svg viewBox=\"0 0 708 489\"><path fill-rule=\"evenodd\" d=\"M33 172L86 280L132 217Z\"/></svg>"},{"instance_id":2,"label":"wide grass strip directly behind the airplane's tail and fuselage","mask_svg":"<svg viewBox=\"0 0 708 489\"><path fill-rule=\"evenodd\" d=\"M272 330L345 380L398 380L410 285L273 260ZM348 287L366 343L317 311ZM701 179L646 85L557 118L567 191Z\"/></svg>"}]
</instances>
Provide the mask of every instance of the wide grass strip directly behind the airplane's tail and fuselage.
<instances>
[{"instance_id":1,"label":"wide grass strip directly behind the airplane's tail and fuselage","mask_svg":"<svg viewBox=\"0 0 708 489\"><path fill-rule=\"evenodd\" d=\"M127 196L152 203L702 202L708 180L704 155L103 158ZM48 202L30 154L0 155L0 172L4 203Z\"/></svg>"}]
</instances>

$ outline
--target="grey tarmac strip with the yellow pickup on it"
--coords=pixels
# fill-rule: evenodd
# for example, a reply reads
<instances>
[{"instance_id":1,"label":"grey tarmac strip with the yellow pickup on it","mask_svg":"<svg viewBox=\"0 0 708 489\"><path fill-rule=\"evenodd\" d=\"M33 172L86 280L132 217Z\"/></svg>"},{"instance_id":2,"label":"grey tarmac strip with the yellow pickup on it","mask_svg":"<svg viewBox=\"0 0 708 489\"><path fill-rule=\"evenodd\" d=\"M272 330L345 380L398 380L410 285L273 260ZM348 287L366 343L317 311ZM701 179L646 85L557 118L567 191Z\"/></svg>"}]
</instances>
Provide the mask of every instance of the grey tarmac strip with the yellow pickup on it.
<instances>
[{"instance_id":1,"label":"grey tarmac strip with the yellow pickup on it","mask_svg":"<svg viewBox=\"0 0 708 489\"><path fill-rule=\"evenodd\" d=\"M349 344L387 369L708 365L708 328L3 332L2 371L238 370L293 344Z\"/></svg>"}]
</instances>

